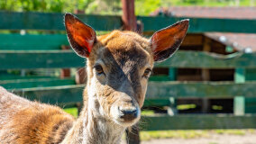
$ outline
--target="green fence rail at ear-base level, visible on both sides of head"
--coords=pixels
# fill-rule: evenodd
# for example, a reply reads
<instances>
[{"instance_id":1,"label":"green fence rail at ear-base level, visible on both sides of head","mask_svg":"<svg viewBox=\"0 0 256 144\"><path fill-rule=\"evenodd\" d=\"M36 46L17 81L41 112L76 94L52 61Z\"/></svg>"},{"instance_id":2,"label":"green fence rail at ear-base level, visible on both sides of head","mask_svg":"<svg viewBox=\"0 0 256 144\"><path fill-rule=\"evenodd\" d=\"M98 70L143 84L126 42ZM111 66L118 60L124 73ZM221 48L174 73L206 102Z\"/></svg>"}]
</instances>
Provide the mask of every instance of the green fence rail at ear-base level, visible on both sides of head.
<instances>
[{"instance_id":1,"label":"green fence rail at ear-base level, visible on both sides of head","mask_svg":"<svg viewBox=\"0 0 256 144\"><path fill-rule=\"evenodd\" d=\"M180 50L172 58L156 63L155 67L256 67L256 53L229 56ZM85 58L78 57L72 50L0 50L0 69L84 67L85 61Z\"/></svg>"}]
</instances>

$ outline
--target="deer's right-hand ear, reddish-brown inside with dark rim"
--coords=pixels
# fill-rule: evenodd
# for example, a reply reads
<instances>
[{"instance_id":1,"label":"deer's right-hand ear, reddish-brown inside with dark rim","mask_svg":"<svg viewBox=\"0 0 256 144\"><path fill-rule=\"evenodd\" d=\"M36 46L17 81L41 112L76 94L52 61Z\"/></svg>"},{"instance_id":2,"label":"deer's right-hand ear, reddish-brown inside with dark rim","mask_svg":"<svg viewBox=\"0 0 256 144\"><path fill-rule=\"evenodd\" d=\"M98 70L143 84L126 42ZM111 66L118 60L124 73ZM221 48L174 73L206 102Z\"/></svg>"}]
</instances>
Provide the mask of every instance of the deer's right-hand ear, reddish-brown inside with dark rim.
<instances>
[{"instance_id":1,"label":"deer's right-hand ear, reddish-brown inside with dark rim","mask_svg":"<svg viewBox=\"0 0 256 144\"><path fill-rule=\"evenodd\" d=\"M151 37L151 49L155 61L163 61L178 49L187 34L189 20L175 23L155 32Z\"/></svg>"}]
</instances>

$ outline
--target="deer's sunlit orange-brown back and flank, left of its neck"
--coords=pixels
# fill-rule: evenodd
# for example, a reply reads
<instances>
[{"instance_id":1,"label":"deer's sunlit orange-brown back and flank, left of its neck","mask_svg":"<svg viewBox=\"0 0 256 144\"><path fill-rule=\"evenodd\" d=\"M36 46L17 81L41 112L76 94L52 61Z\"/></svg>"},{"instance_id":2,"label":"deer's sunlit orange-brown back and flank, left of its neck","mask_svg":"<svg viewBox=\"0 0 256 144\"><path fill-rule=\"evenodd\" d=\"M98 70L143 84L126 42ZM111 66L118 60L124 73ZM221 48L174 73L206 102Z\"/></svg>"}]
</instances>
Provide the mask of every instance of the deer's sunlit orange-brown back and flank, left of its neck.
<instances>
[{"instance_id":1,"label":"deer's sunlit orange-brown back and flank, left of its neck","mask_svg":"<svg viewBox=\"0 0 256 144\"><path fill-rule=\"evenodd\" d=\"M59 107L30 102L0 87L1 143L59 143L74 118Z\"/></svg>"}]
</instances>

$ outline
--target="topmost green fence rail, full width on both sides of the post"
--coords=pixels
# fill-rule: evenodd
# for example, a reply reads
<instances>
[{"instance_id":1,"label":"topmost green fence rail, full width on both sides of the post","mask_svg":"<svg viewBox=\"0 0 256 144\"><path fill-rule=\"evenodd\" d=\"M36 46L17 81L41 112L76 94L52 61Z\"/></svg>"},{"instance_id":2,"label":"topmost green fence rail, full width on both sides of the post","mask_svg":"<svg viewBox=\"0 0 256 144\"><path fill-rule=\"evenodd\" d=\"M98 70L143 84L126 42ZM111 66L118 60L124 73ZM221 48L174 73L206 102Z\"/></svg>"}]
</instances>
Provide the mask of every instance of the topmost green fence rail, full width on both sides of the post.
<instances>
[{"instance_id":1,"label":"topmost green fence rail, full width on both sides of the post","mask_svg":"<svg viewBox=\"0 0 256 144\"><path fill-rule=\"evenodd\" d=\"M64 14L0 12L0 29L63 31L63 15ZM122 27L121 16L117 15L78 14L78 17L83 22L91 25L96 31L111 31ZM256 32L256 20L187 18L190 20L189 32ZM144 25L144 31L158 31L170 24L187 18L137 16L137 19L142 21Z\"/></svg>"}]
</instances>

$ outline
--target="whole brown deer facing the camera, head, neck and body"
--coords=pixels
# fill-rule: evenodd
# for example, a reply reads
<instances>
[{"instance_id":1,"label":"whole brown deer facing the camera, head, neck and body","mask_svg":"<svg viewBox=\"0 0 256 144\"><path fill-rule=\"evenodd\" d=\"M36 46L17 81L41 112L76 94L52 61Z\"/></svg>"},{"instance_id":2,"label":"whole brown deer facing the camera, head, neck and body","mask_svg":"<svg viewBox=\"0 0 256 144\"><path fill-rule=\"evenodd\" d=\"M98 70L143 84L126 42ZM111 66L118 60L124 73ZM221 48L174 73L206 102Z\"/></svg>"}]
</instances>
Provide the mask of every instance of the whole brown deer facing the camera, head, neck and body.
<instances>
[{"instance_id":1,"label":"whole brown deer facing the camera, head, neck and body","mask_svg":"<svg viewBox=\"0 0 256 144\"><path fill-rule=\"evenodd\" d=\"M71 48L87 59L87 84L78 119L56 105L32 102L0 87L0 141L5 144L117 144L141 118L154 62L177 51L188 20L156 31L96 31L72 14L64 23Z\"/></svg>"}]
</instances>

